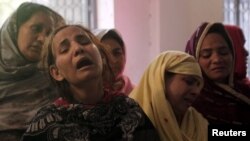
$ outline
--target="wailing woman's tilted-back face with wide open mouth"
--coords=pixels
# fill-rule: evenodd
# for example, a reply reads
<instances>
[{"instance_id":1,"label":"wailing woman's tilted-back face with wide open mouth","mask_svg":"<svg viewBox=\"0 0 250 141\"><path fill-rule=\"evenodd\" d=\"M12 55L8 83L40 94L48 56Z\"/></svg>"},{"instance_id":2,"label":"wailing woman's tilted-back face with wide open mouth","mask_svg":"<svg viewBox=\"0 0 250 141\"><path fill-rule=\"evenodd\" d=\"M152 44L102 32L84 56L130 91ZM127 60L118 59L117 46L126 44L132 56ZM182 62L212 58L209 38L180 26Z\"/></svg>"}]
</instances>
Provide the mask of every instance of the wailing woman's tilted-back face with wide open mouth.
<instances>
[{"instance_id":1,"label":"wailing woman's tilted-back face with wide open mouth","mask_svg":"<svg viewBox=\"0 0 250 141\"><path fill-rule=\"evenodd\" d=\"M53 39L52 52L55 65L50 67L51 76L67 80L72 86L101 78L101 55L89 35L81 28L69 26L60 30Z\"/></svg>"}]
</instances>

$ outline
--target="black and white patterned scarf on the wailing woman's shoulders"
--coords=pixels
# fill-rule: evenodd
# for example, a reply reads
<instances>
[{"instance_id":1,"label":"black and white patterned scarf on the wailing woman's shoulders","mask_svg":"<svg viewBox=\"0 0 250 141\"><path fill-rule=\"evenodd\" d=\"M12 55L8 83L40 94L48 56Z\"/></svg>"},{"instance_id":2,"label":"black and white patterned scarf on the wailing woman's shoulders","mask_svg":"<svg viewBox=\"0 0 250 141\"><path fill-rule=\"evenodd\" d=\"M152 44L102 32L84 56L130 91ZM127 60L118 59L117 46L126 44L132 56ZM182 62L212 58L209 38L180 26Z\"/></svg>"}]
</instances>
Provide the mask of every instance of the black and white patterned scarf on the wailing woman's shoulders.
<instances>
[{"instance_id":1,"label":"black and white patterned scarf on the wailing woman's shoulders","mask_svg":"<svg viewBox=\"0 0 250 141\"><path fill-rule=\"evenodd\" d=\"M133 140L145 122L139 105L123 95L108 95L95 105L59 99L42 108L23 136L46 141Z\"/></svg>"}]
</instances>

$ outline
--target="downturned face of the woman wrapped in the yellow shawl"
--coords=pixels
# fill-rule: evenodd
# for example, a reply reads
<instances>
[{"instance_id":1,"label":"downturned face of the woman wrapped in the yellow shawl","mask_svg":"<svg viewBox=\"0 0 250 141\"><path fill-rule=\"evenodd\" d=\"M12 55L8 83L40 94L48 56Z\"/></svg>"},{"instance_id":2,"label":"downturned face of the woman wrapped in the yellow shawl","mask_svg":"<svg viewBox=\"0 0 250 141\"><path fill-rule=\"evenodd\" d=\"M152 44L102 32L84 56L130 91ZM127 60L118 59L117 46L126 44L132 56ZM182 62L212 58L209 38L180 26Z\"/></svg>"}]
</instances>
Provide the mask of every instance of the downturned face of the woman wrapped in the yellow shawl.
<instances>
[{"instance_id":1,"label":"downturned face of the woman wrapped in the yellow shawl","mask_svg":"<svg viewBox=\"0 0 250 141\"><path fill-rule=\"evenodd\" d=\"M174 74L165 78L166 98L174 112L183 115L201 91L201 84L196 76Z\"/></svg>"}]
</instances>

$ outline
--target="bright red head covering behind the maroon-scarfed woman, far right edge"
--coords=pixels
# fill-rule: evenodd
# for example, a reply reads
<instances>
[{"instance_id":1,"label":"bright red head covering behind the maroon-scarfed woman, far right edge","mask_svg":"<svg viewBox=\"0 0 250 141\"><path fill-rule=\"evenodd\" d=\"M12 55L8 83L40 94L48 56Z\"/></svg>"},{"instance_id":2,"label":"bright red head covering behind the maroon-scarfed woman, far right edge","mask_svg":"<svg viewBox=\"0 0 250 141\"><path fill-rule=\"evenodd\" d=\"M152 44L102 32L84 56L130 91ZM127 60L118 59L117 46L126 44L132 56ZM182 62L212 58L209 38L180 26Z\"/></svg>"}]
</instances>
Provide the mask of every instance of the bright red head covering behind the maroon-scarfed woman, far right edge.
<instances>
[{"instance_id":1,"label":"bright red head covering behind the maroon-scarfed woman, far right edge","mask_svg":"<svg viewBox=\"0 0 250 141\"><path fill-rule=\"evenodd\" d=\"M226 30L228 31L235 50L235 79L244 79L246 78L247 70L247 51L244 48L245 37L242 30L235 25L225 25Z\"/></svg>"}]
</instances>

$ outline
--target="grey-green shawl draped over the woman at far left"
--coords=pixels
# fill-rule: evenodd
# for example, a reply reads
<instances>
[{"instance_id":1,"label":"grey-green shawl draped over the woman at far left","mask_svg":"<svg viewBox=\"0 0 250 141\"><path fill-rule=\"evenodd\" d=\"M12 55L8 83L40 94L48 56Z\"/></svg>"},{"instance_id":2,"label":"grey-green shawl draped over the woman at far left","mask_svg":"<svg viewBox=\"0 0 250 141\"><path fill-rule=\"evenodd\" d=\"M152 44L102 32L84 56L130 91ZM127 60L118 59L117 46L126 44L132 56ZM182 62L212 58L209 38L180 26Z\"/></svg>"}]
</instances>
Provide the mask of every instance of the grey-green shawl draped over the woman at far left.
<instances>
[{"instance_id":1,"label":"grey-green shawl draped over the woman at far left","mask_svg":"<svg viewBox=\"0 0 250 141\"><path fill-rule=\"evenodd\" d=\"M58 96L37 63L27 61L17 46L19 12L37 5L23 3L0 29L0 131L25 129L35 113ZM60 15L51 12L54 28L64 24Z\"/></svg>"}]
</instances>

